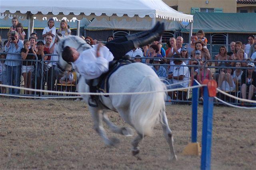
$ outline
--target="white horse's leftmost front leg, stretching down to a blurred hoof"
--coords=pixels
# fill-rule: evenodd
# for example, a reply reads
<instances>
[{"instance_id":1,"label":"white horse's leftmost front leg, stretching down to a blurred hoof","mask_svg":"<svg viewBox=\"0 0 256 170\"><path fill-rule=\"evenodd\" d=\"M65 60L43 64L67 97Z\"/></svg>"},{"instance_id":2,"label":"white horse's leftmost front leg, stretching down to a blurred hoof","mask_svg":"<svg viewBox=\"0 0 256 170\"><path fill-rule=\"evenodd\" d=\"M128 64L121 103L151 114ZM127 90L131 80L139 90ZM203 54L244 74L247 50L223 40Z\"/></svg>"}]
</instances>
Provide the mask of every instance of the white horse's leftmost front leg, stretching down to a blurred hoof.
<instances>
[{"instance_id":1,"label":"white horse's leftmost front leg, stretching down to a blurred hoof","mask_svg":"<svg viewBox=\"0 0 256 170\"><path fill-rule=\"evenodd\" d=\"M117 138L109 139L103 128L103 125L102 125L103 111L101 109L98 109L97 107L89 107L89 110L94 120L94 129L96 130L96 132L98 132L100 137L103 139L104 143L108 146L117 145L119 143L119 140Z\"/></svg>"}]
</instances>

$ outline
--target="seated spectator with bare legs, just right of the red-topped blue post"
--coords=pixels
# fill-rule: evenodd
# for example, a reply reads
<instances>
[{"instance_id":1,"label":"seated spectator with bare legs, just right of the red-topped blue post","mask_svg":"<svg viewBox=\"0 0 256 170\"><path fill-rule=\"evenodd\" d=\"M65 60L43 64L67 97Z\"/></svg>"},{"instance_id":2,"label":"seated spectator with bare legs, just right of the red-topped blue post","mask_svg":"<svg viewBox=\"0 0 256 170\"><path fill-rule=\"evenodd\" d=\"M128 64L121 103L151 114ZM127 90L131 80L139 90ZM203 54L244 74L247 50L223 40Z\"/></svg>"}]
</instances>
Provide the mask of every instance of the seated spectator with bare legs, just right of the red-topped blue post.
<instances>
[{"instance_id":1,"label":"seated spectator with bare legs, just right of the red-topped blue post","mask_svg":"<svg viewBox=\"0 0 256 170\"><path fill-rule=\"evenodd\" d=\"M226 70L226 71L225 71ZM232 92L236 89L236 85L232 79L232 69L231 68L221 68L220 76L218 79L218 88L225 92Z\"/></svg>"}]
</instances>

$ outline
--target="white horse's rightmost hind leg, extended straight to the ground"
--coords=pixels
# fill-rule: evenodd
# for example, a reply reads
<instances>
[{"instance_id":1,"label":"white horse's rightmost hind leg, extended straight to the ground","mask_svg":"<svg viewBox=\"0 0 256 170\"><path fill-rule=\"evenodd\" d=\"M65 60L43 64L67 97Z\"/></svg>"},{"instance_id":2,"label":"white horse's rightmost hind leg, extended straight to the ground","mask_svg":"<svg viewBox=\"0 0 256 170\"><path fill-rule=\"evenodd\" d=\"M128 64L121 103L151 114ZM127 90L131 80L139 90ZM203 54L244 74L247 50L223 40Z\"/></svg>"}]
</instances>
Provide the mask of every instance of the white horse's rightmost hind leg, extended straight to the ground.
<instances>
[{"instance_id":1,"label":"white horse's rightmost hind leg, extended straight to the ground","mask_svg":"<svg viewBox=\"0 0 256 170\"><path fill-rule=\"evenodd\" d=\"M173 146L173 137L172 137L172 131L168 125L168 120L166 117L165 111L162 111L162 128L164 131L164 137L166 138L166 141L169 144L170 150L171 150L171 160L177 160L177 156L174 151L174 146Z\"/></svg>"}]
</instances>

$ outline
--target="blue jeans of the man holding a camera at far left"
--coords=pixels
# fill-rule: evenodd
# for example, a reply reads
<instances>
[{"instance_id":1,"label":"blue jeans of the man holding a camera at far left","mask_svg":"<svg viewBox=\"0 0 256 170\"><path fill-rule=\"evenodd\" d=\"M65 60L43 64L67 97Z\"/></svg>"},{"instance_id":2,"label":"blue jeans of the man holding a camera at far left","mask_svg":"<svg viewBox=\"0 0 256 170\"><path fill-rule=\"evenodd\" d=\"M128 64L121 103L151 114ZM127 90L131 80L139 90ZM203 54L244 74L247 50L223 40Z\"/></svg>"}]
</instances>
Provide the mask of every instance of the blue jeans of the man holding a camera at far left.
<instances>
[{"instance_id":1,"label":"blue jeans of the man holding a camera at far left","mask_svg":"<svg viewBox=\"0 0 256 170\"><path fill-rule=\"evenodd\" d=\"M21 75L21 65L20 66L6 65L7 85L20 87L20 75ZM20 94L20 89L9 88L8 93Z\"/></svg>"}]
</instances>

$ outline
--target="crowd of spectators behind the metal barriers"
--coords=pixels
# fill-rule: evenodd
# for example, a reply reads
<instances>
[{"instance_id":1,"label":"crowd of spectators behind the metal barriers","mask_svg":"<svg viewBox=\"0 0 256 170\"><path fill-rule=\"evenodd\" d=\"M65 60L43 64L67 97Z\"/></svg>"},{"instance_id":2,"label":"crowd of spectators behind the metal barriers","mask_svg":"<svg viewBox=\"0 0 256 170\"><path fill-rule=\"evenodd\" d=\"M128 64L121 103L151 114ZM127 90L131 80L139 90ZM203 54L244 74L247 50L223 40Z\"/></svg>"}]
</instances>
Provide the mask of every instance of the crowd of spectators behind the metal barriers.
<instances>
[{"instance_id":1,"label":"crowd of spectators behind the metal barriers","mask_svg":"<svg viewBox=\"0 0 256 170\"><path fill-rule=\"evenodd\" d=\"M8 54L0 56L1 59L6 59L0 62L0 83L20 86L22 75L24 87L27 88L44 89L47 84L47 90L56 90L58 83L75 84L72 72L67 72L69 76L57 78L54 71L58 60L56 36L65 37L70 34L65 20L62 20L56 29L54 20L49 19L48 26L42 33L44 41L38 41L36 33L32 33L27 40L22 24L14 17L12 27L8 31L8 40L4 42L4 52ZM91 37L80 37L92 47L99 43ZM109 36L107 41L113 39L113 36ZM214 62L209 61L212 57L207 49L207 43L204 31L199 30L197 34L192 34L191 43L186 45L183 37L171 37L166 43L166 50L161 42L154 41L141 48L133 48L126 55L136 57L135 62L149 64L159 77L166 79L164 82L170 88L188 87L188 80L191 78L198 80L199 83L205 79L215 79L221 90L241 91L242 98L252 99L256 92L256 72L252 69L255 67L253 61L256 61L256 37L248 36L246 45L240 41L230 43L230 51L226 46L221 46L219 53L214 57ZM42 60L43 64L40 62ZM208 68L209 66L215 68ZM1 93L6 93L6 89L2 88ZM8 93L20 94L20 90L10 88ZM24 91L24 94L32 93ZM177 98L175 93L169 95L171 98Z\"/></svg>"}]
</instances>

